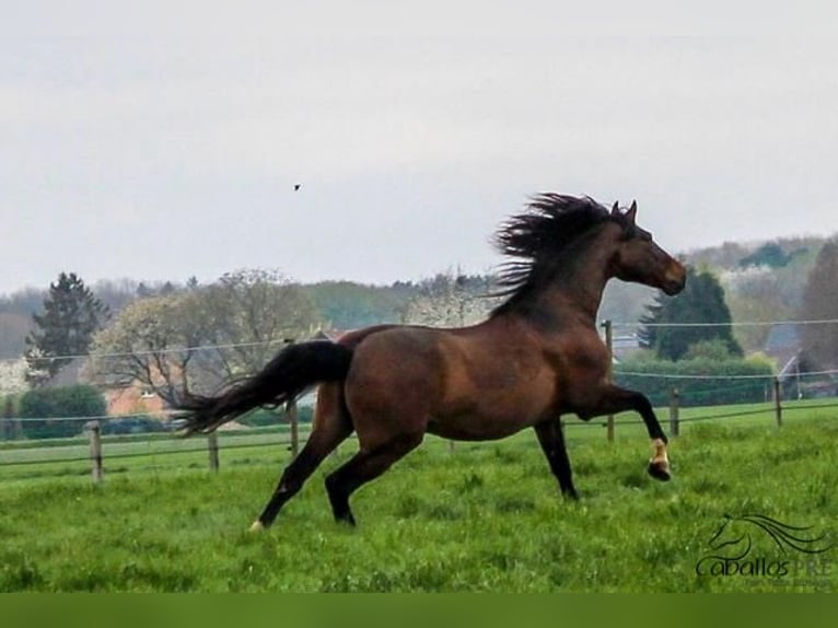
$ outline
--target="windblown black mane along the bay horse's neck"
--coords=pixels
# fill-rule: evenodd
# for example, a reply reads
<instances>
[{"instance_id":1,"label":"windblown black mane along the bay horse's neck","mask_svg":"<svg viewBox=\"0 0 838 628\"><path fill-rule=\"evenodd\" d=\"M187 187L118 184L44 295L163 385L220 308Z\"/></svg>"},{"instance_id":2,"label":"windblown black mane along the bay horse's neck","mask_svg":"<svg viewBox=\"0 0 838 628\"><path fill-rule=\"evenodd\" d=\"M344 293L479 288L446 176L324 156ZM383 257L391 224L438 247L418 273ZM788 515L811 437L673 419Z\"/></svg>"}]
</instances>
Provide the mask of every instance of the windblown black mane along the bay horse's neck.
<instances>
[{"instance_id":1,"label":"windblown black mane along the bay horse's neck","mask_svg":"<svg viewBox=\"0 0 838 628\"><path fill-rule=\"evenodd\" d=\"M507 311L533 289L555 277L561 254L583 233L609 220L621 221L590 197L538 194L524 213L503 223L494 236L498 249L515 258L501 267L497 296L509 299L493 314Z\"/></svg>"}]
</instances>

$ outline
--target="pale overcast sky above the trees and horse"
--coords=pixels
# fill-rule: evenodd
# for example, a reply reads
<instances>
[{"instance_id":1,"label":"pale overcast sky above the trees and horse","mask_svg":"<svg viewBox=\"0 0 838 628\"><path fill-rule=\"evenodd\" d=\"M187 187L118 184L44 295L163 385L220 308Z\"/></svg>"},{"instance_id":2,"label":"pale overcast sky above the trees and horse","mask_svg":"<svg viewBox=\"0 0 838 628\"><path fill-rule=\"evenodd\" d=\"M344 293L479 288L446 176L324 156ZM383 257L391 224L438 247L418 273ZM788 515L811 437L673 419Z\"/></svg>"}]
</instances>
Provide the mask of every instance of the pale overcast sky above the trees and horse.
<instances>
[{"instance_id":1,"label":"pale overcast sky above the trees and horse","mask_svg":"<svg viewBox=\"0 0 838 628\"><path fill-rule=\"evenodd\" d=\"M793 15L18 4L0 26L0 294L61 271L485 272L539 191L637 199L673 253L838 232L838 43Z\"/></svg>"}]
</instances>

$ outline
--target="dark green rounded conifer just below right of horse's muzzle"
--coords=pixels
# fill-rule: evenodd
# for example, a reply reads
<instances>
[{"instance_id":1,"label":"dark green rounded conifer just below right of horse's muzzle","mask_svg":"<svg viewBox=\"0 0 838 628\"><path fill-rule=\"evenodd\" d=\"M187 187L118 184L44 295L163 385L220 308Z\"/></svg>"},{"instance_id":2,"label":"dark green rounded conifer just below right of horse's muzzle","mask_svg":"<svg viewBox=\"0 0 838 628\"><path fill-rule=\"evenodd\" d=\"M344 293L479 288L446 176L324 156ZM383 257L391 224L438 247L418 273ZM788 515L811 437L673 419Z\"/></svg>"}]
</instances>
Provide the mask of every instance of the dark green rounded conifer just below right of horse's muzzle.
<instances>
[{"instance_id":1,"label":"dark green rounded conifer just below right of horse's muzzle","mask_svg":"<svg viewBox=\"0 0 838 628\"><path fill-rule=\"evenodd\" d=\"M732 356L741 357L743 351L733 337L731 322L724 289L715 276L689 267L684 291L677 296L659 294L640 319L640 345L661 359L679 360L692 345L718 339Z\"/></svg>"}]
</instances>

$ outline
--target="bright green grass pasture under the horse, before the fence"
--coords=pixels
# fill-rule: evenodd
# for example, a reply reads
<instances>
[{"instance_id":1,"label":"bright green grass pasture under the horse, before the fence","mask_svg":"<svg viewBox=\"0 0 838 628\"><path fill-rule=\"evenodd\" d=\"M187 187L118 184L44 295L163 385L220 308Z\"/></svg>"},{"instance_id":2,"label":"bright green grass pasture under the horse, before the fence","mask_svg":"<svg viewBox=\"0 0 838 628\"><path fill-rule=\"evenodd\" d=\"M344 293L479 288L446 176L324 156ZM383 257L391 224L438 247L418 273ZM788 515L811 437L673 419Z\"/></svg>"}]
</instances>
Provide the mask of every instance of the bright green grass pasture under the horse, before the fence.
<instances>
[{"instance_id":1,"label":"bright green grass pasture under the horse, before the fence","mask_svg":"<svg viewBox=\"0 0 838 628\"><path fill-rule=\"evenodd\" d=\"M101 486L75 472L8 477L0 591L838 590L838 548L783 553L754 531L749 573L696 572L725 514L838 534L835 409L794 412L781 429L769 415L687 422L668 484L647 477L639 426L619 426L615 443L598 427L567 433L578 503L558 496L532 433L453 452L429 438L356 495L354 530L333 522L323 490L353 443L255 535L246 528L288 458L281 445L222 450L216 475L203 452L127 458L130 473L115 461ZM785 573L754 572L766 561Z\"/></svg>"}]
</instances>

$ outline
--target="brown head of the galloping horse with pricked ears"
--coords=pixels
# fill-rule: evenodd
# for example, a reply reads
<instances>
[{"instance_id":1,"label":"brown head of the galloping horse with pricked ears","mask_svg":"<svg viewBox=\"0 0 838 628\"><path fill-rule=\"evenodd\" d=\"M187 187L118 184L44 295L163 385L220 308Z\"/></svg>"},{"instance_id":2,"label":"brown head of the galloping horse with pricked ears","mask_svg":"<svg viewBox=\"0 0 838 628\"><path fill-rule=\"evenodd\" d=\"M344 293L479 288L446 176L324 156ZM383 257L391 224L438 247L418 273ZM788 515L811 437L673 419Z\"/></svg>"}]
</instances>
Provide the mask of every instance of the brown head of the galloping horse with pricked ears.
<instances>
[{"instance_id":1,"label":"brown head of the galloping horse with pricked ears","mask_svg":"<svg viewBox=\"0 0 838 628\"><path fill-rule=\"evenodd\" d=\"M617 203L612 218L620 225L620 233L612 258L612 272L624 281L659 288L666 294L677 294L684 289L687 271L652 240L652 234L637 224L637 202L622 212Z\"/></svg>"}]
</instances>

